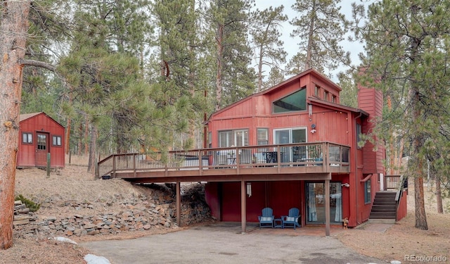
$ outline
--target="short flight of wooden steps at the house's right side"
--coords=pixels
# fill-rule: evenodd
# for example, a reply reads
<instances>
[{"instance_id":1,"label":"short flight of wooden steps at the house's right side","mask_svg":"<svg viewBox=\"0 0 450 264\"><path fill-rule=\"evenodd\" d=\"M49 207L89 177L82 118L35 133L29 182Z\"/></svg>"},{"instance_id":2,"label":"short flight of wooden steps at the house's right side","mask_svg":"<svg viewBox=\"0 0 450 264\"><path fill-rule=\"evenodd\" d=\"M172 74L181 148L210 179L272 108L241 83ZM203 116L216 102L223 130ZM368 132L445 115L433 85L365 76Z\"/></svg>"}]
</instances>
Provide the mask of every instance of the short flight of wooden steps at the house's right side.
<instances>
[{"instance_id":1,"label":"short flight of wooden steps at the house's right side","mask_svg":"<svg viewBox=\"0 0 450 264\"><path fill-rule=\"evenodd\" d=\"M377 191L373 199L371 222L395 222L397 218L397 201L395 191Z\"/></svg>"}]
</instances>

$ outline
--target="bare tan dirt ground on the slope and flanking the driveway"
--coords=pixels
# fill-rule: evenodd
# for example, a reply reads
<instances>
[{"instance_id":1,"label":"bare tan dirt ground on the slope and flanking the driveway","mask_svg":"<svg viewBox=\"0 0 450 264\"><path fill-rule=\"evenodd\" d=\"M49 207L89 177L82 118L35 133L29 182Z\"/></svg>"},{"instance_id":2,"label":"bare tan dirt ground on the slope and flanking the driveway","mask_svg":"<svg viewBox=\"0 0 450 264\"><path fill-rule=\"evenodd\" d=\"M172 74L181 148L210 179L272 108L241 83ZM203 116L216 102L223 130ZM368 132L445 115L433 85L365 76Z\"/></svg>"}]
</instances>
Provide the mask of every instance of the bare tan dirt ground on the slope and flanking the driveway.
<instances>
[{"instance_id":1,"label":"bare tan dirt ground on the slope and flanking the driveway","mask_svg":"<svg viewBox=\"0 0 450 264\"><path fill-rule=\"evenodd\" d=\"M71 164L66 165L64 170L51 172L50 177L46 177L44 170L36 168L17 170L15 182L16 194L23 194L23 196L36 201L47 201L46 197L51 196L52 203L67 200L104 203L105 199L118 196L126 198L143 191L121 180L94 180L94 176L86 172L84 159L77 157L72 157ZM349 229L347 232L340 232L336 237L359 253L387 262L400 260L402 263L409 263L405 261L406 258L418 260L425 256L444 256L446 261L450 262L450 214L449 212L436 213L435 197L430 191L427 191L427 187L425 187L425 191L428 230L418 230L414 227L414 198L413 191L410 190L407 217L392 225L385 232L374 232L362 225L359 228ZM449 200L444 201L444 205L448 203ZM108 208L108 210L113 210L113 208ZM61 210L60 206L46 206L39 209L37 213L63 215L70 213L70 210ZM82 214L82 212L79 213ZM122 232L107 236L82 236L73 238L73 240L80 242L98 239L131 239L176 230L180 230L180 228ZM20 239L15 237L13 243L11 249L0 251L0 263L85 263L83 258L86 253L89 253L81 246L48 238ZM428 258L428 260L430 259ZM432 262L425 259L423 262L415 261L414 263Z\"/></svg>"}]
</instances>

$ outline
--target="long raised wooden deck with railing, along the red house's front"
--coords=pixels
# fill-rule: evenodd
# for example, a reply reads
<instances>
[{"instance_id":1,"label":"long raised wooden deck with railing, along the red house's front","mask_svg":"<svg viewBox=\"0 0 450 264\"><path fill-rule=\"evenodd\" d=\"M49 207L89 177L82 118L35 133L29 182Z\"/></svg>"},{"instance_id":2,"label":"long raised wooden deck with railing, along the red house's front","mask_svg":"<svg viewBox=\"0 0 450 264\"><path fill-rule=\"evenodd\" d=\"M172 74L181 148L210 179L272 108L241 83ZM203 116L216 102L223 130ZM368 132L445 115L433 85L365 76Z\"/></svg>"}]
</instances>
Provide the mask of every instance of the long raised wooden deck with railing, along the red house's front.
<instances>
[{"instance_id":1,"label":"long raised wooden deck with railing, along the red house's front","mask_svg":"<svg viewBox=\"0 0 450 264\"><path fill-rule=\"evenodd\" d=\"M131 182L330 180L349 173L349 146L330 142L113 154L98 177Z\"/></svg>"}]
</instances>

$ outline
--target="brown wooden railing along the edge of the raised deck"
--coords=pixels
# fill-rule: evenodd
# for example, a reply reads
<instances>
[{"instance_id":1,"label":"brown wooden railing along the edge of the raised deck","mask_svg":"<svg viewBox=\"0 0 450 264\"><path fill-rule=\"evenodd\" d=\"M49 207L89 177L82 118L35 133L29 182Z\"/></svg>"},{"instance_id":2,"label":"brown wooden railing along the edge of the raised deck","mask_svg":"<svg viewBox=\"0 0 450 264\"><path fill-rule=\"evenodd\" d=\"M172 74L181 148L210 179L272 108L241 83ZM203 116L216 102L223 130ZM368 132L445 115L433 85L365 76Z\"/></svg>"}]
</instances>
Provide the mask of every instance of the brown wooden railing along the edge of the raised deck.
<instances>
[{"instance_id":1,"label":"brown wooden railing along the edge of the raised deck","mask_svg":"<svg viewBox=\"0 0 450 264\"><path fill-rule=\"evenodd\" d=\"M287 166L349 167L349 146L330 142L113 154L98 162L98 177L116 172L212 170Z\"/></svg>"}]
</instances>

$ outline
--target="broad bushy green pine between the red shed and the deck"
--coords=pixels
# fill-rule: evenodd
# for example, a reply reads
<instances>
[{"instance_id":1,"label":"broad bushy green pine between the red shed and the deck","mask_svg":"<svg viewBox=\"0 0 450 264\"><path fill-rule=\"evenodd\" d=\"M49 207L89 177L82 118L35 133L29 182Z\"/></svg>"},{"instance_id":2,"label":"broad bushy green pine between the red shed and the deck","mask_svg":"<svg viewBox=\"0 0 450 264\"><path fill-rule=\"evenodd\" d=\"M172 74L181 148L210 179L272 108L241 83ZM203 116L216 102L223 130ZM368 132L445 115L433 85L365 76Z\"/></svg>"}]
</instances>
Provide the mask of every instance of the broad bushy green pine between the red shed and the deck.
<instances>
[{"instance_id":1,"label":"broad bushy green pine between the red shed and the deck","mask_svg":"<svg viewBox=\"0 0 450 264\"><path fill-rule=\"evenodd\" d=\"M72 107L78 109L75 112L89 117L88 122L78 118L80 125L89 131L88 126L104 123L99 116L109 120L109 125L103 129L92 127L90 131L98 130L103 137L114 138L116 151L127 152L137 142L136 124L144 118L141 111L146 111L146 103L136 108L135 101L138 96L143 102L148 98L139 91L144 89L140 83L143 63L139 63L139 58L143 52L142 45L152 30L146 22L148 3L77 1L77 4L75 30L72 32L74 42L69 56L61 60L58 70L72 87L68 97L74 100ZM98 140L105 143L102 137ZM89 139L86 133L83 141L87 146ZM95 153L91 151L91 155Z\"/></svg>"}]
</instances>

